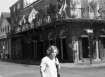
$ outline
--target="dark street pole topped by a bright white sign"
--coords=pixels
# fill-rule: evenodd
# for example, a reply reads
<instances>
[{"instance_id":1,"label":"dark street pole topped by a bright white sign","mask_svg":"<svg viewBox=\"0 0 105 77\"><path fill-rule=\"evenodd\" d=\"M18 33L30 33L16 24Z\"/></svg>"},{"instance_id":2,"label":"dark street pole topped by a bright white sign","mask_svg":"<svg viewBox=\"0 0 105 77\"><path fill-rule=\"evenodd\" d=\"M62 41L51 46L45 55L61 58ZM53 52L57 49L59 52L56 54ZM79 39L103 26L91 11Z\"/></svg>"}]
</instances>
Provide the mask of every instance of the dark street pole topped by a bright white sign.
<instances>
[{"instance_id":1,"label":"dark street pole topped by a bright white sign","mask_svg":"<svg viewBox=\"0 0 105 77\"><path fill-rule=\"evenodd\" d=\"M86 30L88 33L88 40L89 40L89 55L90 55L90 64L92 64L92 56L91 56L91 43L92 43L92 33L93 30L92 29L87 29Z\"/></svg>"}]
</instances>

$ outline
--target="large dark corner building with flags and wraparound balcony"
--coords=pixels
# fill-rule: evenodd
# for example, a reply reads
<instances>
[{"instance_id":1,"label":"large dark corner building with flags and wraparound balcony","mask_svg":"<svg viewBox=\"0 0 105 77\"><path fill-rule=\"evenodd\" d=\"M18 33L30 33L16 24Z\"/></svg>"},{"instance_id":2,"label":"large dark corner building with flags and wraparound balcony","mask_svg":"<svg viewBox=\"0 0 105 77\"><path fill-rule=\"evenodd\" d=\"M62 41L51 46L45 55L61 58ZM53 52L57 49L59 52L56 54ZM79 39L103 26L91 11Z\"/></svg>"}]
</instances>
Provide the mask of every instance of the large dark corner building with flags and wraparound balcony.
<instances>
[{"instance_id":1,"label":"large dark corner building with flags and wraparound balcony","mask_svg":"<svg viewBox=\"0 0 105 77\"><path fill-rule=\"evenodd\" d=\"M56 45L60 61L104 59L102 1L19 0L10 7L12 58L40 60Z\"/></svg>"}]
</instances>

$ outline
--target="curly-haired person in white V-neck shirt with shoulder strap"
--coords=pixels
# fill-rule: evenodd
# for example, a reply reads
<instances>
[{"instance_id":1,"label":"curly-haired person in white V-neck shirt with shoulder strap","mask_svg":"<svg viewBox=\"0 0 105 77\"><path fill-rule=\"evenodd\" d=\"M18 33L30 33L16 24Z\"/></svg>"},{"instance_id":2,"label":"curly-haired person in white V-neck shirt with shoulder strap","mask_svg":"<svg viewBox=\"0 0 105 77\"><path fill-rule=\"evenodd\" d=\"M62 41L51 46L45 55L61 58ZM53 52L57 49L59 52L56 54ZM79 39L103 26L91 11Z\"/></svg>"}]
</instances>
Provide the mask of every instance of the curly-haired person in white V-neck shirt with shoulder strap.
<instances>
[{"instance_id":1,"label":"curly-haired person in white V-neck shirt with shoulder strap","mask_svg":"<svg viewBox=\"0 0 105 77\"><path fill-rule=\"evenodd\" d=\"M58 48L54 45L51 45L47 49L47 56L42 58L40 64L40 72L42 77L58 77L57 76L57 67L60 69L59 60L56 57L58 54Z\"/></svg>"}]
</instances>

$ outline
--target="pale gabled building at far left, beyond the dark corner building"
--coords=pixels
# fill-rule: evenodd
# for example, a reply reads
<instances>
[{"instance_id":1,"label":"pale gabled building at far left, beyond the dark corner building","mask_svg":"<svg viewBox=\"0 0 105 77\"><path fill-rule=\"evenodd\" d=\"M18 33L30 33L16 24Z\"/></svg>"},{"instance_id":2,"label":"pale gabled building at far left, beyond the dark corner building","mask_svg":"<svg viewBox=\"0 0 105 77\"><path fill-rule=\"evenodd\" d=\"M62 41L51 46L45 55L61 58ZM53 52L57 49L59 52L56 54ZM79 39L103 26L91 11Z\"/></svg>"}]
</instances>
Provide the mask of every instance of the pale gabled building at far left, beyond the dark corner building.
<instances>
[{"instance_id":1,"label":"pale gabled building at far left, beyond the dark corner building","mask_svg":"<svg viewBox=\"0 0 105 77\"><path fill-rule=\"evenodd\" d=\"M0 19L0 53L4 58L11 58L11 18L10 13L2 12Z\"/></svg>"}]
</instances>

